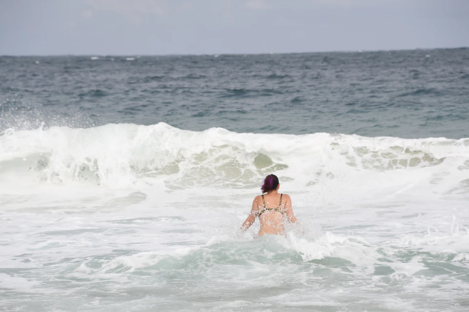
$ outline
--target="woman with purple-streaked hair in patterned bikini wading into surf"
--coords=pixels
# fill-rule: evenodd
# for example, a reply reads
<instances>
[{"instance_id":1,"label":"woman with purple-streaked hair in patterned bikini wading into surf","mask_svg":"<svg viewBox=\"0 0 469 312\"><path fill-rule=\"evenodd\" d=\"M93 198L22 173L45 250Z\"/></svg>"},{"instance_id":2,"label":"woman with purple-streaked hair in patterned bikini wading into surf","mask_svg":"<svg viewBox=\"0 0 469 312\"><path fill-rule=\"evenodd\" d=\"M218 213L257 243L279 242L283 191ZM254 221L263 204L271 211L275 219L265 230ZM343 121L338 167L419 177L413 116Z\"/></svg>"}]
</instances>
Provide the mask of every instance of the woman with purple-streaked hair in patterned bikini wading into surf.
<instances>
[{"instance_id":1,"label":"woman with purple-streaked hair in patterned bikini wading into surf","mask_svg":"<svg viewBox=\"0 0 469 312\"><path fill-rule=\"evenodd\" d=\"M243 232L256 221L256 216L259 216L260 222L258 235L285 234L284 219L286 218L290 222L297 221L297 218L293 215L292 199L289 195L278 194L279 188L280 183L277 176L269 175L265 177L264 185L261 187L262 195L254 198L251 213L241 227Z\"/></svg>"}]
</instances>

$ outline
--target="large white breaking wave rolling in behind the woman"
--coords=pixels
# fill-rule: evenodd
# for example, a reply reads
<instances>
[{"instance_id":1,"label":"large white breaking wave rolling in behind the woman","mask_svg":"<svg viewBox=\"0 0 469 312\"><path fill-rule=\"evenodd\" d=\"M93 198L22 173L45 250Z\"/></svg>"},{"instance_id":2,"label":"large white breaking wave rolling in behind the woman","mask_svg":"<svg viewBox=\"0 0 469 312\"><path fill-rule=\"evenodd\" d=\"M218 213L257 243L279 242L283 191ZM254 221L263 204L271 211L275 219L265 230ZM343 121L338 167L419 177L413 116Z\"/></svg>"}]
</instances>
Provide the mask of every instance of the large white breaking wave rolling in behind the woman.
<instances>
[{"instance_id":1,"label":"large white breaking wave rolling in behind the woman","mask_svg":"<svg viewBox=\"0 0 469 312\"><path fill-rule=\"evenodd\" d=\"M128 187L142 179L170 188L254 188L276 172L300 188L323 179L400 171L433 178L453 176L469 192L469 138L360 137L235 133L222 128L195 132L166 123L107 124L74 129L8 129L0 136L0 183L79 181ZM402 178L405 179L405 175ZM459 180L457 180L459 179Z\"/></svg>"}]
</instances>

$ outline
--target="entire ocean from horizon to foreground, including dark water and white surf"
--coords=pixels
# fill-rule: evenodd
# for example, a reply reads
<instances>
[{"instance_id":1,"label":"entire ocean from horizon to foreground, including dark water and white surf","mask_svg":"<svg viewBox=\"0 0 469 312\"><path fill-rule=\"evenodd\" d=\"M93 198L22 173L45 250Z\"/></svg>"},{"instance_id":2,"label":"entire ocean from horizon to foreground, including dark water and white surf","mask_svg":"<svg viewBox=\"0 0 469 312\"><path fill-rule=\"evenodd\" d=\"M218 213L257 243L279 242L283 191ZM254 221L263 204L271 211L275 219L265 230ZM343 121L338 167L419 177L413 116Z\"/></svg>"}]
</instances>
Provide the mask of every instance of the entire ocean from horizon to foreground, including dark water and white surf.
<instances>
[{"instance_id":1,"label":"entire ocean from horizon to foreground, including dark water and white surf","mask_svg":"<svg viewBox=\"0 0 469 312\"><path fill-rule=\"evenodd\" d=\"M298 225L239 228L275 174ZM469 311L469 49L0 57L0 310Z\"/></svg>"}]
</instances>

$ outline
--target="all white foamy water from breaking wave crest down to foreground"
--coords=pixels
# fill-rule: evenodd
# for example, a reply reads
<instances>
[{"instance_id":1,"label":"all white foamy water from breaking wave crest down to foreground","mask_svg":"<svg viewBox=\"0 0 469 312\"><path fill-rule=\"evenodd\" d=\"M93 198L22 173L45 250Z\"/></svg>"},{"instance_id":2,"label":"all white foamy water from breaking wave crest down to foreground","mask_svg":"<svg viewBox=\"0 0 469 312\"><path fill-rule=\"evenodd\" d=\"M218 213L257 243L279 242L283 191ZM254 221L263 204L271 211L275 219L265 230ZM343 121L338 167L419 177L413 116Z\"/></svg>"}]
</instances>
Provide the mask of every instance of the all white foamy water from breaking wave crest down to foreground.
<instances>
[{"instance_id":1,"label":"all white foamy water from breaking wave crest down to foreground","mask_svg":"<svg viewBox=\"0 0 469 312\"><path fill-rule=\"evenodd\" d=\"M469 139L183 131L0 136L5 311L469 309ZM286 237L239 227L267 174Z\"/></svg>"}]
</instances>

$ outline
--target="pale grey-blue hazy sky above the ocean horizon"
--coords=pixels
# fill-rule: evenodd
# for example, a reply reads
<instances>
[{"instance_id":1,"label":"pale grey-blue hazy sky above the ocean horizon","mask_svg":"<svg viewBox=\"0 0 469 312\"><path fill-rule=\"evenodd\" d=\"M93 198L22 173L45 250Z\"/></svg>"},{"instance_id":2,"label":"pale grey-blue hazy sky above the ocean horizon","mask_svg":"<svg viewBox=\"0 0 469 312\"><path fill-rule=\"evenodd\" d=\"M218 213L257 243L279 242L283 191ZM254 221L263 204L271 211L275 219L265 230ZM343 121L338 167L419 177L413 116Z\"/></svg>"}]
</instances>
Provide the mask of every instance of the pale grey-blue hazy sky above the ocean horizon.
<instances>
[{"instance_id":1,"label":"pale grey-blue hazy sky above the ocean horizon","mask_svg":"<svg viewBox=\"0 0 469 312\"><path fill-rule=\"evenodd\" d=\"M469 0L0 0L0 55L469 46Z\"/></svg>"}]
</instances>

